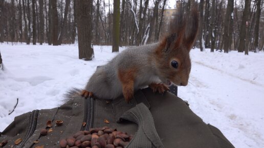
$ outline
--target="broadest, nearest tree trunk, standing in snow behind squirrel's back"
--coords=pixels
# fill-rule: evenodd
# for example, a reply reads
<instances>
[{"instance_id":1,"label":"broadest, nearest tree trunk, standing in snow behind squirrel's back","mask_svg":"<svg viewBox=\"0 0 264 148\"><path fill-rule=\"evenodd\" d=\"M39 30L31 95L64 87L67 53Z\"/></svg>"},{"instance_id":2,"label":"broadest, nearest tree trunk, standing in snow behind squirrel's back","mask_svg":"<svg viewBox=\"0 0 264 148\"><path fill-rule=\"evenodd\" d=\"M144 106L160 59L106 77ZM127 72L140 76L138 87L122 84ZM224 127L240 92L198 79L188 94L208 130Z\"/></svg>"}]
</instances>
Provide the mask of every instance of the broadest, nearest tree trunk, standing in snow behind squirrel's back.
<instances>
[{"instance_id":1,"label":"broadest, nearest tree trunk, standing in snow behind squirrel's back","mask_svg":"<svg viewBox=\"0 0 264 148\"><path fill-rule=\"evenodd\" d=\"M91 44L92 14L90 9L93 7L93 1L76 0L76 3L79 59L92 60L94 49Z\"/></svg>"}]
</instances>

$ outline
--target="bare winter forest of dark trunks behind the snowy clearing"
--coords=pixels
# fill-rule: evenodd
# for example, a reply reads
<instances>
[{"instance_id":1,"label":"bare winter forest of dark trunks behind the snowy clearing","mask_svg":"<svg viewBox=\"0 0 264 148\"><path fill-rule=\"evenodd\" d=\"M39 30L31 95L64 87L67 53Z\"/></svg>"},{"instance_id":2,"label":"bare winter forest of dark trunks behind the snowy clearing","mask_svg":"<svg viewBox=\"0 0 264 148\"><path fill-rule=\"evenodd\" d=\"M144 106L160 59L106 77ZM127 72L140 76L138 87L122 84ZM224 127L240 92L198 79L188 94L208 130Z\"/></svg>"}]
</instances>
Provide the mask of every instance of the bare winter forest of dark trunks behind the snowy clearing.
<instances>
[{"instance_id":1,"label":"bare winter forest of dark trunks behind the snowy clearing","mask_svg":"<svg viewBox=\"0 0 264 148\"><path fill-rule=\"evenodd\" d=\"M199 12L195 47L228 53L264 48L263 0L1 0L0 42L118 46L157 42L170 23L168 9ZM86 34L86 35L85 35ZM85 45L85 43L89 45ZM116 48L114 49L114 45ZM89 47L90 46L90 47ZM80 48L80 45L79 45ZM90 57L93 52L90 53Z\"/></svg>"}]
</instances>

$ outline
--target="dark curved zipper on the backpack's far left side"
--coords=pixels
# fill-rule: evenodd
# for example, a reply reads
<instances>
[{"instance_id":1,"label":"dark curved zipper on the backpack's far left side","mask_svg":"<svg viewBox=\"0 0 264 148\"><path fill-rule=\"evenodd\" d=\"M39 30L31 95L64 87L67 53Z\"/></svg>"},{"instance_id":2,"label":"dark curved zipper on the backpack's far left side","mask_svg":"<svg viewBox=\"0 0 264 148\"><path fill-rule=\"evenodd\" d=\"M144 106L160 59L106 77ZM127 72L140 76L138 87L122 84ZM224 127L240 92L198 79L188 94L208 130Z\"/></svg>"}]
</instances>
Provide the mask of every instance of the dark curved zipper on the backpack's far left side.
<instances>
[{"instance_id":1,"label":"dark curved zipper on the backpack's far left side","mask_svg":"<svg viewBox=\"0 0 264 148\"><path fill-rule=\"evenodd\" d=\"M39 110L33 110L29 115L29 126L28 131L26 135L24 136L23 141L21 142L19 147L23 147L25 143L28 141L28 139L32 136L32 134L35 132L37 127L37 116L38 116Z\"/></svg>"}]
</instances>

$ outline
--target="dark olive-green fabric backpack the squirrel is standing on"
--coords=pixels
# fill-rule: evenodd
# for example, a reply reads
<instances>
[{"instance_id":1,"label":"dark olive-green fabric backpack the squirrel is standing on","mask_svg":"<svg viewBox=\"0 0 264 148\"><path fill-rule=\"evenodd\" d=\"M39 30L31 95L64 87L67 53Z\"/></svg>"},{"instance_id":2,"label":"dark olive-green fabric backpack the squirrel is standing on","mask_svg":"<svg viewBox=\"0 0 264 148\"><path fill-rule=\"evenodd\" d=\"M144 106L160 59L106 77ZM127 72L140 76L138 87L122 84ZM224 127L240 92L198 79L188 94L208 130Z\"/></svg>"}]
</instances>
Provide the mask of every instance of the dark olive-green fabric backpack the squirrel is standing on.
<instances>
[{"instance_id":1,"label":"dark olive-green fabric backpack the squirrel is standing on","mask_svg":"<svg viewBox=\"0 0 264 148\"><path fill-rule=\"evenodd\" d=\"M177 94L177 88L171 90ZM142 89L129 104L123 97L115 100L83 98L79 92L71 90L68 100L60 107L34 110L15 117L0 133L1 146L60 147L60 141L78 131L107 126L133 135L123 145L128 148L234 147L221 131L205 124L190 110L188 103L171 92L159 94L149 88ZM42 134L43 129L48 133Z\"/></svg>"}]
</instances>

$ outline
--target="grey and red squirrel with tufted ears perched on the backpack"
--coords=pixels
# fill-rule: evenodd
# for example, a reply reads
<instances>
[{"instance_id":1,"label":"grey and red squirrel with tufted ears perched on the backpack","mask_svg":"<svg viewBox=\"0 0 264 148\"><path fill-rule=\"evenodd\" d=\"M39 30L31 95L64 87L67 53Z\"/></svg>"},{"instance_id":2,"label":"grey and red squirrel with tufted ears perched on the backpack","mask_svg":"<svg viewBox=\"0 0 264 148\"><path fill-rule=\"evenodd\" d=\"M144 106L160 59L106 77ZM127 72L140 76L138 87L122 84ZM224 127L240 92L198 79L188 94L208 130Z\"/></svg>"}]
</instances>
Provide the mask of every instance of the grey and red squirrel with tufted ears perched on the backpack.
<instances>
[{"instance_id":1,"label":"grey and red squirrel with tufted ears perched on the backpack","mask_svg":"<svg viewBox=\"0 0 264 148\"><path fill-rule=\"evenodd\" d=\"M170 34L159 43L128 48L98 67L81 95L113 100L123 94L129 102L134 91L145 86L159 93L169 90L171 84L186 86L191 70L189 52L199 26L196 9L191 18L188 30L186 19L180 14L175 22L178 25L174 23Z\"/></svg>"}]
</instances>

